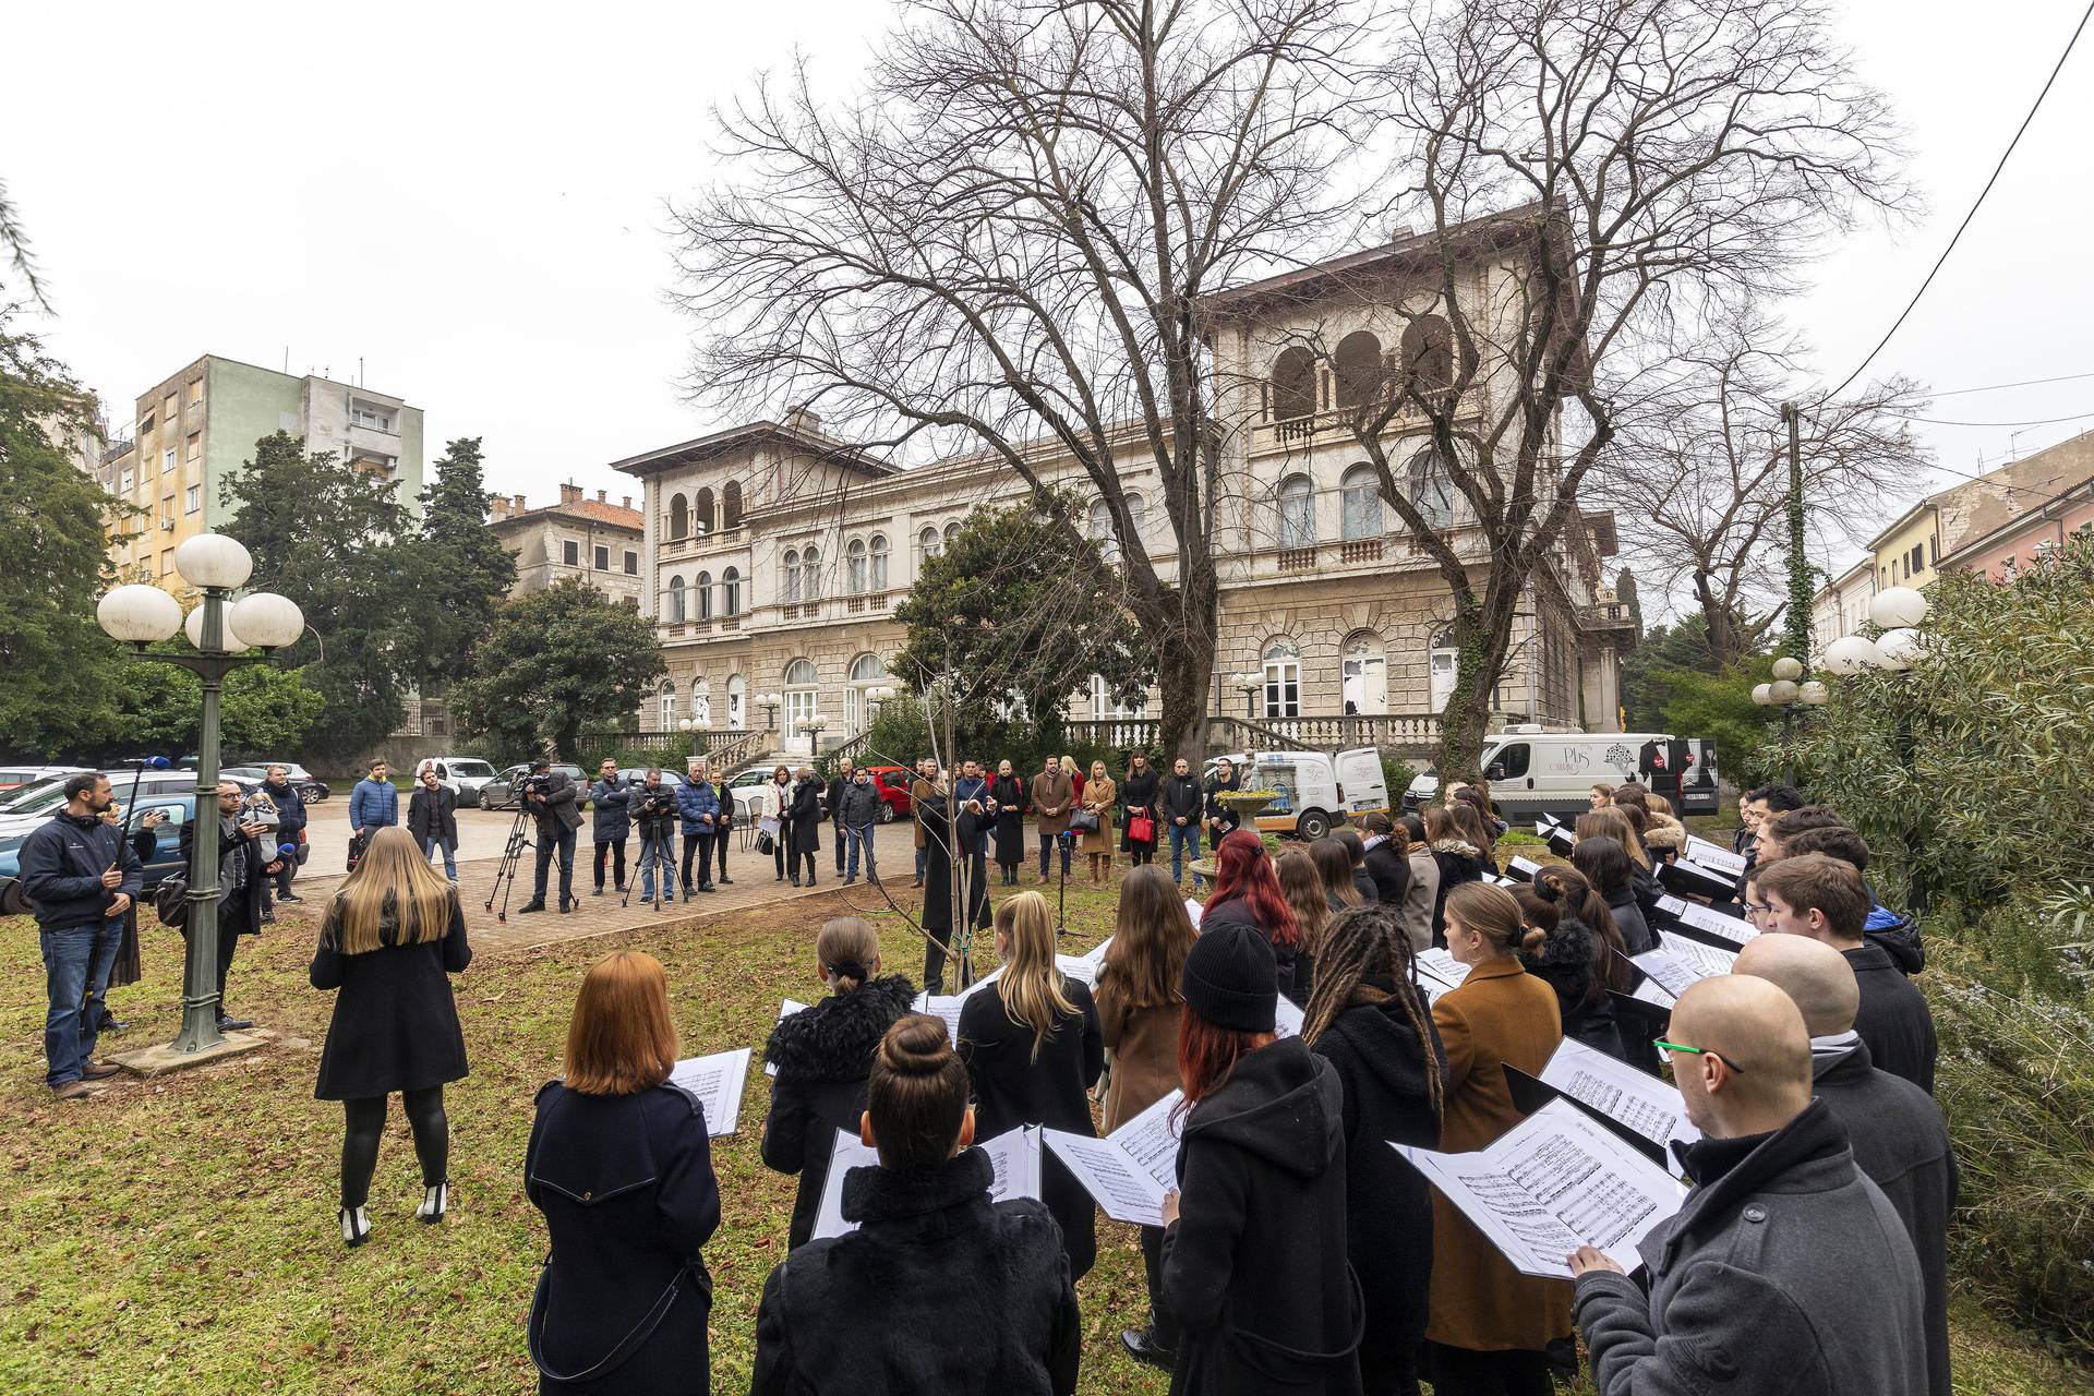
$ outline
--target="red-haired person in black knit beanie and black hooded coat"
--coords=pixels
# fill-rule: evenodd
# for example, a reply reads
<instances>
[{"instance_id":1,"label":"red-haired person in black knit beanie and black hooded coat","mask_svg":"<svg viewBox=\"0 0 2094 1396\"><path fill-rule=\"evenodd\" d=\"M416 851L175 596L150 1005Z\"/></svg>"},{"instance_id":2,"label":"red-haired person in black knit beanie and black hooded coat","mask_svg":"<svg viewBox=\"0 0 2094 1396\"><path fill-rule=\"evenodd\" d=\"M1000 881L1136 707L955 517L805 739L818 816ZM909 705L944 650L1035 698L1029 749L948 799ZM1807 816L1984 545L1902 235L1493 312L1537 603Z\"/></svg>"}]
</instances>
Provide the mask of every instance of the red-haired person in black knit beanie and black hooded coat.
<instances>
[{"instance_id":1,"label":"red-haired person in black knit beanie and black hooded coat","mask_svg":"<svg viewBox=\"0 0 2094 1396\"><path fill-rule=\"evenodd\" d=\"M1275 1038L1277 965L1254 925L1202 921L1179 988L1185 1124L1179 1191L1162 1206L1171 1390L1359 1392L1369 1314L1346 1249L1338 1072L1298 1036Z\"/></svg>"}]
</instances>

